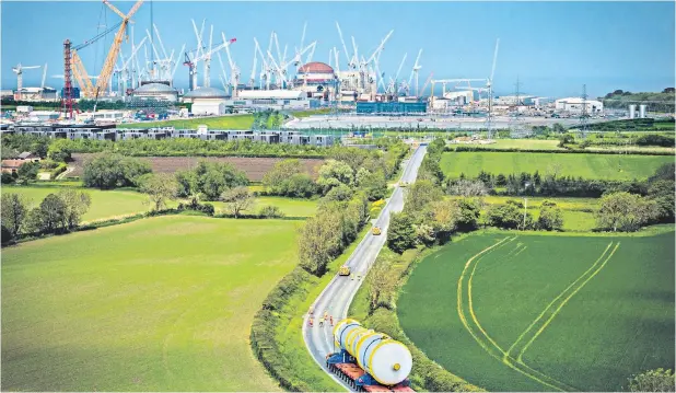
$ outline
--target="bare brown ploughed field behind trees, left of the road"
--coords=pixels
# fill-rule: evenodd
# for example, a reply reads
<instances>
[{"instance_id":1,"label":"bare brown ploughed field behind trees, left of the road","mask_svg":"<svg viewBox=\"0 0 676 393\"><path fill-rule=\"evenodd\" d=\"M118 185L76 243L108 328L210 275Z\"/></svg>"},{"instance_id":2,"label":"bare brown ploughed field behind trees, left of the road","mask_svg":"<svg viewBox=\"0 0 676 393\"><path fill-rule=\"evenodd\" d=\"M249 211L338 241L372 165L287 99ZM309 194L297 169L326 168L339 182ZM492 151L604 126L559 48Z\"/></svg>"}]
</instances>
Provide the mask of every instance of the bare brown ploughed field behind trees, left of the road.
<instances>
[{"instance_id":1,"label":"bare brown ploughed field behind trees, left of the road","mask_svg":"<svg viewBox=\"0 0 676 393\"><path fill-rule=\"evenodd\" d=\"M84 162L93 157L91 153L72 154L73 162L70 163L74 170L69 176L82 176ZM174 173L180 170L189 170L197 166L200 160L228 162L236 169L244 171L249 181L260 182L263 176L268 173L276 163L285 160L278 158L245 158L245 157L219 157L219 158L202 158L202 157L144 157L141 160L150 162L150 166L155 173ZM316 177L319 172L319 166L324 163L320 159L301 159L301 163L307 172Z\"/></svg>"}]
</instances>

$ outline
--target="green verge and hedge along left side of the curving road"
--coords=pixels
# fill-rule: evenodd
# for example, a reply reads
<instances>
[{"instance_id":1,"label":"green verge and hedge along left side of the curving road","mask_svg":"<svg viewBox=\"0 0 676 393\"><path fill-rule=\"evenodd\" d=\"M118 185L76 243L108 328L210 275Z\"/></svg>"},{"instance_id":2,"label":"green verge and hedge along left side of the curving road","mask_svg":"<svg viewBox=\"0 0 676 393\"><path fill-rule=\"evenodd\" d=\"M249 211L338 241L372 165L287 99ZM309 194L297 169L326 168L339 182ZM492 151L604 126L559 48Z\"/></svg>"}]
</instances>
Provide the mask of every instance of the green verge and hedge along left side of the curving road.
<instances>
[{"instance_id":1,"label":"green verge and hedge along left side of the curving road","mask_svg":"<svg viewBox=\"0 0 676 393\"><path fill-rule=\"evenodd\" d=\"M282 388L293 392L342 391L307 351L302 334L303 315L370 229L371 226L364 226L324 276L313 276L300 267L293 269L272 289L256 313L250 333L252 348Z\"/></svg>"}]
</instances>

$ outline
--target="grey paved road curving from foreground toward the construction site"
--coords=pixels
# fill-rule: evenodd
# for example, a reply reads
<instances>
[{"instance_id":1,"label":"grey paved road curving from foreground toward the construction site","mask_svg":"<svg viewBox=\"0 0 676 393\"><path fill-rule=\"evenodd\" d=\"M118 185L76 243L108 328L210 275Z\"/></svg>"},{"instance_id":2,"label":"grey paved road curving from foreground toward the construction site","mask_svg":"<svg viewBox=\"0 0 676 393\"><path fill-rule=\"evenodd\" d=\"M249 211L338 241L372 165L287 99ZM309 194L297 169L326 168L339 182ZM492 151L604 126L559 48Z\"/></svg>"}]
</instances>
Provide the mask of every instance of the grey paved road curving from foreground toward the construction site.
<instances>
[{"instance_id":1,"label":"grey paved road curving from foreground toward the construction site","mask_svg":"<svg viewBox=\"0 0 676 393\"><path fill-rule=\"evenodd\" d=\"M420 167L420 163L422 162L426 152L427 146L421 146L413 152L408 162L405 163L406 167L404 169L404 174L401 175L400 181L408 183L416 181L418 169ZM373 262L375 262L381 248L385 245L387 228L389 227L389 213L393 211L401 211L403 208L404 188L397 186L392 194L392 197L387 200L381 215L377 219L375 219L374 226L381 228L382 234L374 236L371 232L369 232L346 263L350 266L353 274L361 275L362 279L350 279L349 277L336 275L336 277L334 277L334 279L314 302L314 327L307 326L308 315L305 315L305 321L303 323L303 339L305 340L307 350L312 354L315 361L317 361L324 371L326 371L334 378L334 380L348 390L348 385L346 385L340 379L336 378L336 375L330 373L326 368L326 355L336 351L334 348L333 328L328 322L324 325L324 327L319 327L317 316L319 316L319 314L324 314L324 312L328 310L328 313L334 316L334 323L347 317L348 308L352 302L354 293L357 293L357 290L359 289L366 271L369 271L369 268Z\"/></svg>"}]
</instances>

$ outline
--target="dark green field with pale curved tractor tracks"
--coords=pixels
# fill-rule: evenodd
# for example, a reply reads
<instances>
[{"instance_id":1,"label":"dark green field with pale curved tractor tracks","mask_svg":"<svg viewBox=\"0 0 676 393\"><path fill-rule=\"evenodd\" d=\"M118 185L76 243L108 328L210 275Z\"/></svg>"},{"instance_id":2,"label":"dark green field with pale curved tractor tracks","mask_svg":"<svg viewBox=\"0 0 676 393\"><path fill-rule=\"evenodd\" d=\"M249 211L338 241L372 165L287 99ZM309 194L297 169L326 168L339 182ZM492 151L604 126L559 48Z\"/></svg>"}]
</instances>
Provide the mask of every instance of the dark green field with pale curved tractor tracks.
<instances>
[{"instance_id":1,"label":"dark green field with pale curved tractor tracks","mask_svg":"<svg viewBox=\"0 0 676 393\"><path fill-rule=\"evenodd\" d=\"M622 391L674 368L674 231L492 232L415 268L397 304L407 336L489 391Z\"/></svg>"}]
</instances>

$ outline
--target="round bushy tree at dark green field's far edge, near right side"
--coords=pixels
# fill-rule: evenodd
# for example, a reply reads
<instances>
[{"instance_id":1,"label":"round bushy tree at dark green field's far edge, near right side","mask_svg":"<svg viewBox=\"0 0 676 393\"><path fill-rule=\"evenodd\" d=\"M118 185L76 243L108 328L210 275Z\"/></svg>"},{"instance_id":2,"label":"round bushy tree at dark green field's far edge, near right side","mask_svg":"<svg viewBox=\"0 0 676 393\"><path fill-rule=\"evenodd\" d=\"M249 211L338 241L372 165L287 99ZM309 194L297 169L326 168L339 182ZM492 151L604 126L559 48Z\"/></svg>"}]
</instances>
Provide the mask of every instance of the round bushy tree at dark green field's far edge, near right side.
<instances>
[{"instance_id":1,"label":"round bushy tree at dark green field's far edge, near right side","mask_svg":"<svg viewBox=\"0 0 676 393\"><path fill-rule=\"evenodd\" d=\"M602 228L633 232L658 216L657 205L626 192L606 194L601 198L596 220Z\"/></svg>"}]
</instances>

